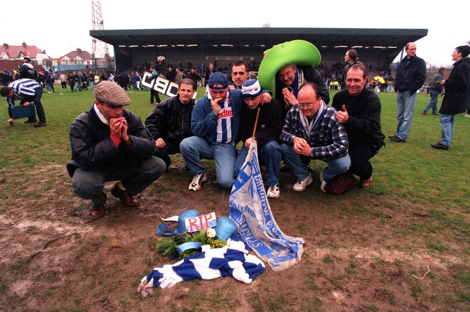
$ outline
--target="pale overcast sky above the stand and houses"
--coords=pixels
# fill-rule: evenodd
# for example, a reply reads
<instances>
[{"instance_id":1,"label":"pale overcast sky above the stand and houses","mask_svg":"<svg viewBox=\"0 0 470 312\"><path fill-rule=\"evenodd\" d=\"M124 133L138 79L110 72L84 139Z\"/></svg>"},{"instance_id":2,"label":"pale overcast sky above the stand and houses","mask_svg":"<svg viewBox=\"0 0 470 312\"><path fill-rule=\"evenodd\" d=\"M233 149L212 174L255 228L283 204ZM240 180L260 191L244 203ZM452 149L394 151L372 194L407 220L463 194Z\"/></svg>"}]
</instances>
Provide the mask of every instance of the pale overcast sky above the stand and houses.
<instances>
[{"instance_id":1,"label":"pale overcast sky above the stand and houses","mask_svg":"<svg viewBox=\"0 0 470 312\"><path fill-rule=\"evenodd\" d=\"M261 27L264 22L271 27L424 28L428 35L417 41L417 55L436 66L452 64L454 48L470 41L467 1L386 2L310 0L263 5L244 0L237 8L234 0L101 0L101 10L107 30ZM456 3L460 7L450 5ZM36 45L52 58L76 48L92 52L91 0L23 0L16 11L14 6L8 14L0 13L2 43Z\"/></svg>"}]
</instances>

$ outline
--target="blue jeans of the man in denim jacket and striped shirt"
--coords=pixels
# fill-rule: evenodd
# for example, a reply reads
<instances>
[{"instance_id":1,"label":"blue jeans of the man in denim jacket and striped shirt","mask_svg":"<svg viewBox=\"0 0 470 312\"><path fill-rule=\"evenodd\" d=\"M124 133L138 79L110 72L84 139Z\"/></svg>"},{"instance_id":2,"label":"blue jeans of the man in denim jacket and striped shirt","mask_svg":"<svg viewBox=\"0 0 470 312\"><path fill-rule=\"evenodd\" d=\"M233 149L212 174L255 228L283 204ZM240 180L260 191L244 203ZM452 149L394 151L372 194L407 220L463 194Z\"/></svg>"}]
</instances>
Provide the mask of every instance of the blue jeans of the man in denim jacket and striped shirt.
<instances>
[{"instance_id":1,"label":"blue jeans of the man in denim jacket and striped shirt","mask_svg":"<svg viewBox=\"0 0 470 312\"><path fill-rule=\"evenodd\" d=\"M191 136L181 141L180 150L191 175L206 173L201 159L214 159L217 182L223 188L234 185L236 148L232 144L212 143L202 137Z\"/></svg>"}]
</instances>

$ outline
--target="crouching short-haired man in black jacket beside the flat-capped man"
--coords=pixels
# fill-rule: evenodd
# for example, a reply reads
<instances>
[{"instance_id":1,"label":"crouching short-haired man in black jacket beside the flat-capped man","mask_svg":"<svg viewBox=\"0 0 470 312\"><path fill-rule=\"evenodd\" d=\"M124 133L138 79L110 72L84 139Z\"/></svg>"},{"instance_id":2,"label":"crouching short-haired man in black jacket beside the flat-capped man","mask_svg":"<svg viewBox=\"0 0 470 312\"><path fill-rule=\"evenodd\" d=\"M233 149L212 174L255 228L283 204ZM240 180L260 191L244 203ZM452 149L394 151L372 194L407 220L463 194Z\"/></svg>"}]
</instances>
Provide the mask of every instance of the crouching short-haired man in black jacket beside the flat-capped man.
<instances>
[{"instance_id":1,"label":"crouching short-haired man in black jacket beside the flat-capped man","mask_svg":"<svg viewBox=\"0 0 470 312\"><path fill-rule=\"evenodd\" d=\"M168 155L181 153L180 143L192 136L191 113L194 107L194 83L182 79L178 94L163 100L145 120L145 126L152 134L157 147L155 156L164 160L166 170L171 164Z\"/></svg>"}]
</instances>

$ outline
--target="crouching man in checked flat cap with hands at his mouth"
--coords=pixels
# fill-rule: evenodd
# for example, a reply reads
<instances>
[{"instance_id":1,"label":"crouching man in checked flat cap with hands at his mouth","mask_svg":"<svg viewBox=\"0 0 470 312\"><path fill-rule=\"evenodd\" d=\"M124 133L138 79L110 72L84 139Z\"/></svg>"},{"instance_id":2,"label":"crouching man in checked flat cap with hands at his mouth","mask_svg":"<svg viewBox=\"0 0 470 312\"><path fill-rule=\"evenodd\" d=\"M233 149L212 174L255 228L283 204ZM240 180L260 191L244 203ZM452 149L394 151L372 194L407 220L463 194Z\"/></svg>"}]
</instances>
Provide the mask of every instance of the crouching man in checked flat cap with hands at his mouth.
<instances>
[{"instance_id":1,"label":"crouching man in checked flat cap with hands at his mouth","mask_svg":"<svg viewBox=\"0 0 470 312\"><path fill-rule=\"evenodd\" d=\"M93 93L93 107L71 124L72 161L67 170L73 192L92 201L90 217L96 220L106 214L105 182L118 180L111 194L135 207L140 204L135 196L159 178L166 166L153 156L155 141L140 118L123 109L131 104L126 91L102 81Z\"/></svg>"}]
</instances>

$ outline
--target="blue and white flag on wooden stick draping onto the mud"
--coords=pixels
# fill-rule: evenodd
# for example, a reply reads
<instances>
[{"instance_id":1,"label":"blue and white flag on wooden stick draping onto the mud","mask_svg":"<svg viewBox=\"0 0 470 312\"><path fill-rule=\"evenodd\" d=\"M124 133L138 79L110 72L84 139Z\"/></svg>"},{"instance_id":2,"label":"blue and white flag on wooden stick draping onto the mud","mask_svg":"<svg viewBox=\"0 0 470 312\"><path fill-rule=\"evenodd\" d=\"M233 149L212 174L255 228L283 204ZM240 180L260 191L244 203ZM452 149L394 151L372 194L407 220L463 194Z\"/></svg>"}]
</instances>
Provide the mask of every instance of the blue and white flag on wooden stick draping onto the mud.
<instances>
[{"instance_id":1,"label":"blue and white flag on wooden stick draping onto the mud","mask_svg":"<svg viewBox=\"0 0 470 312\"><path fill-rule=\"evenodd\" d=\"M235 179L229 204L230 218L237 224L240 236L274 271L300 262L304 239L285 235L274 220L259 170L255 140Z\"/></svg>"}]
</instances>

